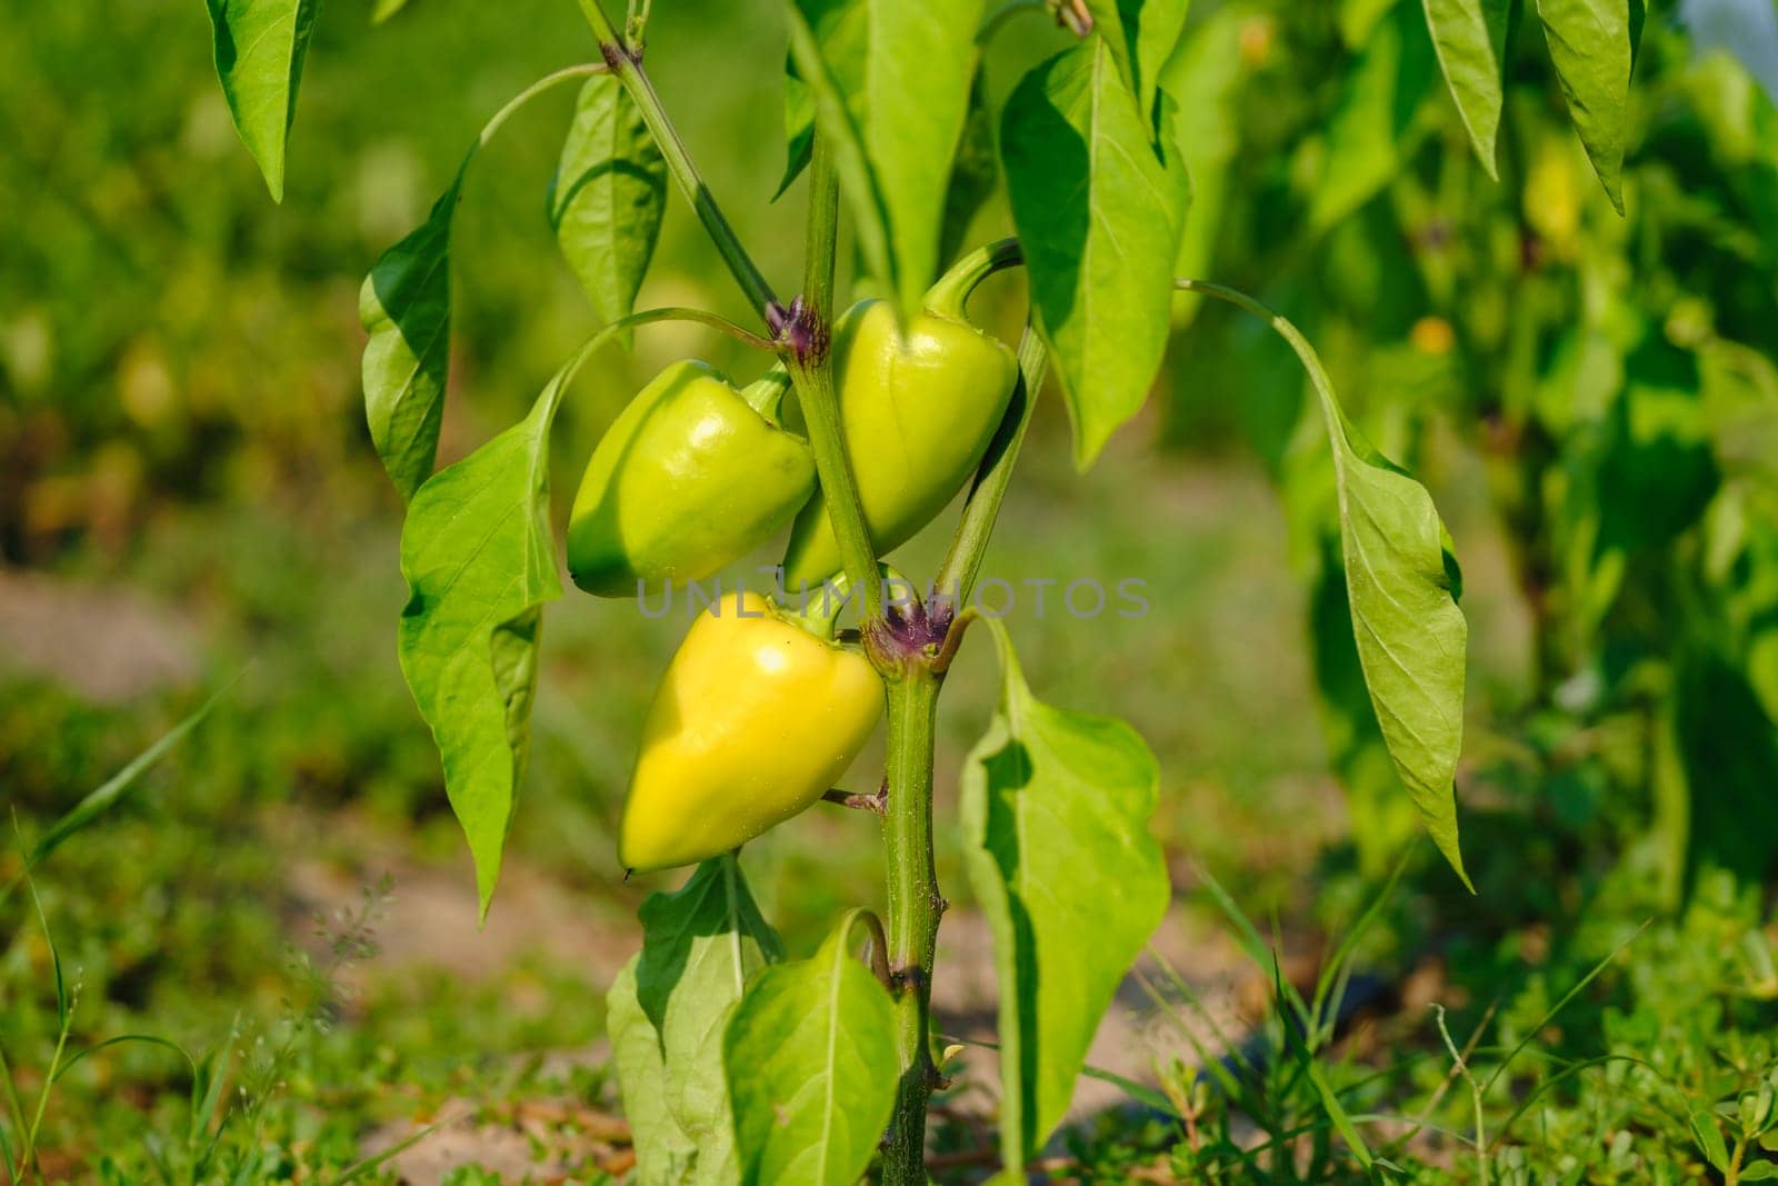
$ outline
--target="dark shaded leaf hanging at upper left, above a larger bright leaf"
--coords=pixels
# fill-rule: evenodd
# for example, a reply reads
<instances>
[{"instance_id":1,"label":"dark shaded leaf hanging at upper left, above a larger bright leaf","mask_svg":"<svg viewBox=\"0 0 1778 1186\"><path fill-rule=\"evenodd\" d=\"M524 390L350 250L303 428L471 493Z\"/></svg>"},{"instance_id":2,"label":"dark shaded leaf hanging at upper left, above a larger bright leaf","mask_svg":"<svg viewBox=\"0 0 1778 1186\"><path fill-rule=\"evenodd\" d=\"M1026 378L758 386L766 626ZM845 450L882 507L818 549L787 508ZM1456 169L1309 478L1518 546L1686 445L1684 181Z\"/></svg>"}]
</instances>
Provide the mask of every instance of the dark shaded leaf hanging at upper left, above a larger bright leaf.
<instances>
[{"instance_id":1,"label":"dark shaded leaf hanging at upper left, above a larger bright leaf","mask_svg":"<svg viewBox=\"0 0 1778 1186\"><path fill-rule=\"evenodd\" d=\"M382 468L402 498L432 477L450 372L450 224L475 149L427 220L364 277L357 317L364 343L364 418Z\"/></svg>"}]
</instances>

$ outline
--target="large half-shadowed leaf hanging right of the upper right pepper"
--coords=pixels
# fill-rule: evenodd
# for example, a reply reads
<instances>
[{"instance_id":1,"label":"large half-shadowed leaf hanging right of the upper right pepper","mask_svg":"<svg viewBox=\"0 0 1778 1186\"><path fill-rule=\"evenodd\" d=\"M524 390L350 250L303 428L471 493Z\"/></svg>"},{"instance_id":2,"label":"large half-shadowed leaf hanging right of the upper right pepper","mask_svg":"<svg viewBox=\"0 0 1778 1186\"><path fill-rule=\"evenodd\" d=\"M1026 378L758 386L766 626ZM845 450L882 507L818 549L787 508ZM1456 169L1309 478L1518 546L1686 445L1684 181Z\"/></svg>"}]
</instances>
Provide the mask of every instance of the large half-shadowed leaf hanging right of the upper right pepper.
<instances>
[{"instance_id":1,"label":"large half-shadowed leaf hanging right of the upper right pepper","mask_svg":"<svg viewBox=\"0 0 1778 1186\"><path fill-rule=\"evenodd\" d=\"M1081 469L1141 407L1166 352L1191 185L1172 128L1161 137L1165 158L1149 135L1101 37L1028 73L1001 117L1031 304L1074 418Z\"/></svg>"}]
</instances>

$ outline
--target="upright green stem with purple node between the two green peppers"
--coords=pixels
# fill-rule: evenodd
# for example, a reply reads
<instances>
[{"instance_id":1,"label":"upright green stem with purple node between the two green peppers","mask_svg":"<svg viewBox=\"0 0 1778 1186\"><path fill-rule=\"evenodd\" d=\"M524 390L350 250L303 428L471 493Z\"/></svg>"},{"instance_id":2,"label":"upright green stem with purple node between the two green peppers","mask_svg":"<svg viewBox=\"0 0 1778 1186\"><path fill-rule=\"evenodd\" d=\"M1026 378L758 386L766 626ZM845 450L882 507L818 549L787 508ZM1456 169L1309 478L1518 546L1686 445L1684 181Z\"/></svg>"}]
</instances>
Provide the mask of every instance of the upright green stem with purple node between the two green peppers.
<instances>
[{"instance_id":1,"label":"upright green stem with purple node between the two green peppers","mask_svg":"<svg viewBox=\"0 0 1778 1186\"><path fill-rule=\"evenodd\" d=\"M834 389L834 256L839 244L839 176L834 172L827 137L814 137L809 160L809 233L802 295L786 315L779 347L797 384L797 400L809 427L809 450L827 496L827 516L834 525L839 557L853 589L864 590L866 637L869 624L884 619L882 574L877 549L864 523L864 503L846 452L839 421L839 393ZM873 661L877 658L873 656Z\"/></svg>"}]
</instances>

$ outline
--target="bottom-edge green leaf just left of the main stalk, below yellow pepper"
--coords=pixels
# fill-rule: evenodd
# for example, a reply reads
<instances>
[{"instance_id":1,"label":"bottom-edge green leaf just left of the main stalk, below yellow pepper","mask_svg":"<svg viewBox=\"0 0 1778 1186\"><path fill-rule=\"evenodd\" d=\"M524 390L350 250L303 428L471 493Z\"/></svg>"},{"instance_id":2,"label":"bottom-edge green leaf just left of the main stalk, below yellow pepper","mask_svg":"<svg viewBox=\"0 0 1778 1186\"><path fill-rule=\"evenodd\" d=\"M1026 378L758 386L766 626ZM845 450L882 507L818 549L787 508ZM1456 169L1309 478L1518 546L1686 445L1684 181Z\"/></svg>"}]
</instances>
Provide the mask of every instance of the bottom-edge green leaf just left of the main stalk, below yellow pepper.
<instances>
[{"instance_id":1,"label":"bottom-edge green leaf just left of the main stalk, below yellow pepper","mask_svg":"<svg viewBox=\"0 0 1778 1186\"><path fill-rule=\"evenodd\" d=\"M813 960L775 964L729 1019L724 1065L741 1182L852 1186L894 1110L889 992L857 960L852 910Z\"/></svg>"}]
</instances>

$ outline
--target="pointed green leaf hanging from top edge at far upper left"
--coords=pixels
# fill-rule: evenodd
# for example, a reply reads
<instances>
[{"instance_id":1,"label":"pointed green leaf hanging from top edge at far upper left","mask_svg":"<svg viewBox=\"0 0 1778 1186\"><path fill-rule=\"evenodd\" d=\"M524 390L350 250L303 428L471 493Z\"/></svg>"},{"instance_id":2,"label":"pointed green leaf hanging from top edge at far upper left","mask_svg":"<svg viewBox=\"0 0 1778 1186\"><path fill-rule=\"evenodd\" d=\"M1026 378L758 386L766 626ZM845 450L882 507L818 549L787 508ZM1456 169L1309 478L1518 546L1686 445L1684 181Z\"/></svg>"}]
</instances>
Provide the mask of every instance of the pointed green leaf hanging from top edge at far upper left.
<instances>
[{"instance_id":1,"label":"pointed green leaf hanging from top edge at far upper left","mask_svg":"<svg viewBox=\"0 0 1778 1186\"><path fill-rule=\"evenodd\" d=\"M284 142L320 0L206 0L217 78L272 201L284 201Z\"/></svg>"}]
</instances>

